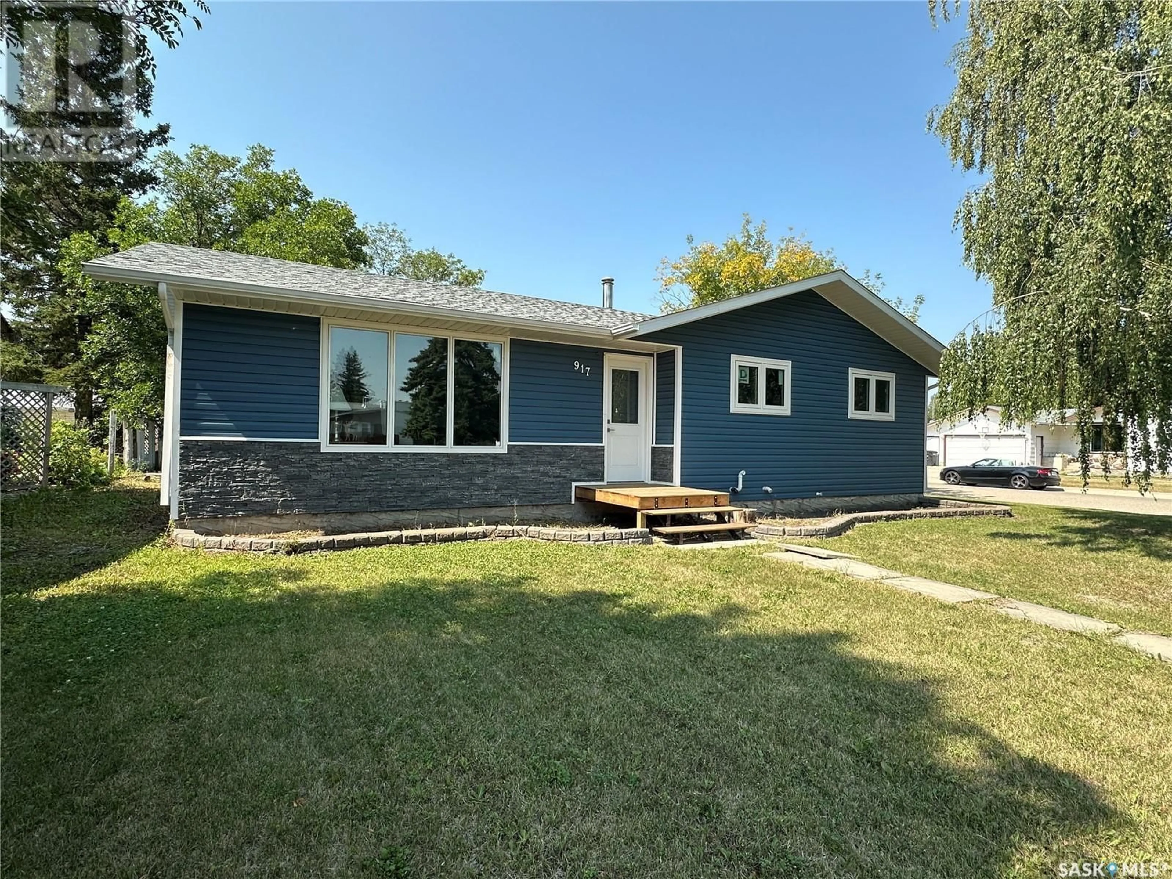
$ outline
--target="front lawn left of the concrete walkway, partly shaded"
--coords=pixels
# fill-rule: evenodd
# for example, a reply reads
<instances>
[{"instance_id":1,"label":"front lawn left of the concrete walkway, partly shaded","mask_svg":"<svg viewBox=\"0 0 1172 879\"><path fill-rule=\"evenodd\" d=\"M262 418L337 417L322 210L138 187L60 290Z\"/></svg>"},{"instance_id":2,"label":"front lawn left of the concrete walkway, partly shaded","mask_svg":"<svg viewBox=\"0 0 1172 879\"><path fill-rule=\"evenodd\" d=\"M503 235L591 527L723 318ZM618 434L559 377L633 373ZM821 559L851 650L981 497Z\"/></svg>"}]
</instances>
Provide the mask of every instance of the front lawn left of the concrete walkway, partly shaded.
<instances>
[{"instance_id":1,"label":"front lawn left of the concrete walkway, partly shaded","mask_svg":"<svg viewBox=\"0 0 1172 879\"><path fill-rule=\"evenodd\" d=\"M152 500L4 503L6 877L1172 861L1172 668L1109 642L752 550L178 551Z\"/></svg>"}]
</instances>

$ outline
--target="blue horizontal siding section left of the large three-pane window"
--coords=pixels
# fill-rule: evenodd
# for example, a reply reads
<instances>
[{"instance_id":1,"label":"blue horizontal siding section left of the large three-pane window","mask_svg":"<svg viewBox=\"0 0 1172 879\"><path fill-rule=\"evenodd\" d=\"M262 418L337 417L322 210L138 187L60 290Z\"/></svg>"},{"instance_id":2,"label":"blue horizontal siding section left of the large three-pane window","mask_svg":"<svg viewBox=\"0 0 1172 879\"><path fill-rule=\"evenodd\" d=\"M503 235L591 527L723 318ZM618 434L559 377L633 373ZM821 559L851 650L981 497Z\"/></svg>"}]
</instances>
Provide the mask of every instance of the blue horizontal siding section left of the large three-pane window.
<instances>
[{"instance_id":1,"label":"blue horizontal siding section left of the large three-pane window","mask_svg":"<svg viewBox=\"0 0 1172 879\"><path fill-rule=\"evenodd\" d=\"M183 307L179 432L318 436L318 318Z\"/></svg>"}]
</instances>

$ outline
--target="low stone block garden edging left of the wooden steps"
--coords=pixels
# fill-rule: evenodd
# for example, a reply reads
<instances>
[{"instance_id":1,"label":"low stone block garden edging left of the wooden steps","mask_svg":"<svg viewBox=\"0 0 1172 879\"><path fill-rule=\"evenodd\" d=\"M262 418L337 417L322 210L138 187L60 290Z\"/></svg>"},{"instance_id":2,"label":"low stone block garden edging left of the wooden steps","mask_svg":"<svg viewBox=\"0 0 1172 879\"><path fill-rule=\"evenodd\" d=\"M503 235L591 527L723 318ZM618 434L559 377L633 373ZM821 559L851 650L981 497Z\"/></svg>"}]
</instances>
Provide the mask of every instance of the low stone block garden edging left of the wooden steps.
<instances>
[{"instance_id":1,"label":"low stone block garden edging left of the wooden steps","mask_svg":"<svg viewBox=\"0 0 1172 879\"><path fill-rule=\"evenodd\" d=\"M411 529L322 537L240 537L203 534L191 529L177 529L172 539L178 546L236 552L315 552L353 550L360 546L396 544L447 544L463 540L510 540L526 538L586 546L640 546L652 541L647 529L554 529L541 525L472 525L462 529Z\"/></svg>"}]
</instances>

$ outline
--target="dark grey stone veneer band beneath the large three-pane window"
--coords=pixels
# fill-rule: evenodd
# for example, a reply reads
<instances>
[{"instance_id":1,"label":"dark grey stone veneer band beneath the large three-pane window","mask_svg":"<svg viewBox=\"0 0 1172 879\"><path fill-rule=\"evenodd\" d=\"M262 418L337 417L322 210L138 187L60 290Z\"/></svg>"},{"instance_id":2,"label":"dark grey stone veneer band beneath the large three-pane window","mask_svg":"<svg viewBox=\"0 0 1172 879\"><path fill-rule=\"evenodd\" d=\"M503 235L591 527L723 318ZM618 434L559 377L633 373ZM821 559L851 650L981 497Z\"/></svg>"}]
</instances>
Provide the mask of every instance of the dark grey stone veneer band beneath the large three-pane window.
<instances>
[{"instance_id":1,"label":"dark grey stone veneer band beneath the large three-pane window","mask_svg":"<svg viewBox=\"0 0 1172 879\"><path fill-rule=\"evenodd\" d=\"M571 483L601 482L602 465L601 445L335 452L304 442L183 440L179 517L567 504Z\"/></svg>"}]
</instances>

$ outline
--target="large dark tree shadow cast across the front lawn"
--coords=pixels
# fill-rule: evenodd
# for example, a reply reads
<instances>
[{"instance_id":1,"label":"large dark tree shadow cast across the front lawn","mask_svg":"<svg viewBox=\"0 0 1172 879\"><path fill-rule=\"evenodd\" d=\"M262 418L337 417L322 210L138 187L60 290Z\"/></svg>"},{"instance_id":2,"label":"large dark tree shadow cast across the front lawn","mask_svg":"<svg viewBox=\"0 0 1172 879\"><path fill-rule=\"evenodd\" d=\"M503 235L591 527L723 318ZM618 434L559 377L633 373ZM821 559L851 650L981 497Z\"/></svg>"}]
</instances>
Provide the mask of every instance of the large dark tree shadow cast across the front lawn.
<instances>
[{"instance_id":1,"label":"large dark tree shadow cast across the front lawn","mask_svg":"<svg viewBox=\"0 0 1172 879\"><path fill-rule=\"evenodd\" d=\"M1113 817L839 633L284 564L16 604L6 871L969 877Z\"/></svg>"}]
</instances>

